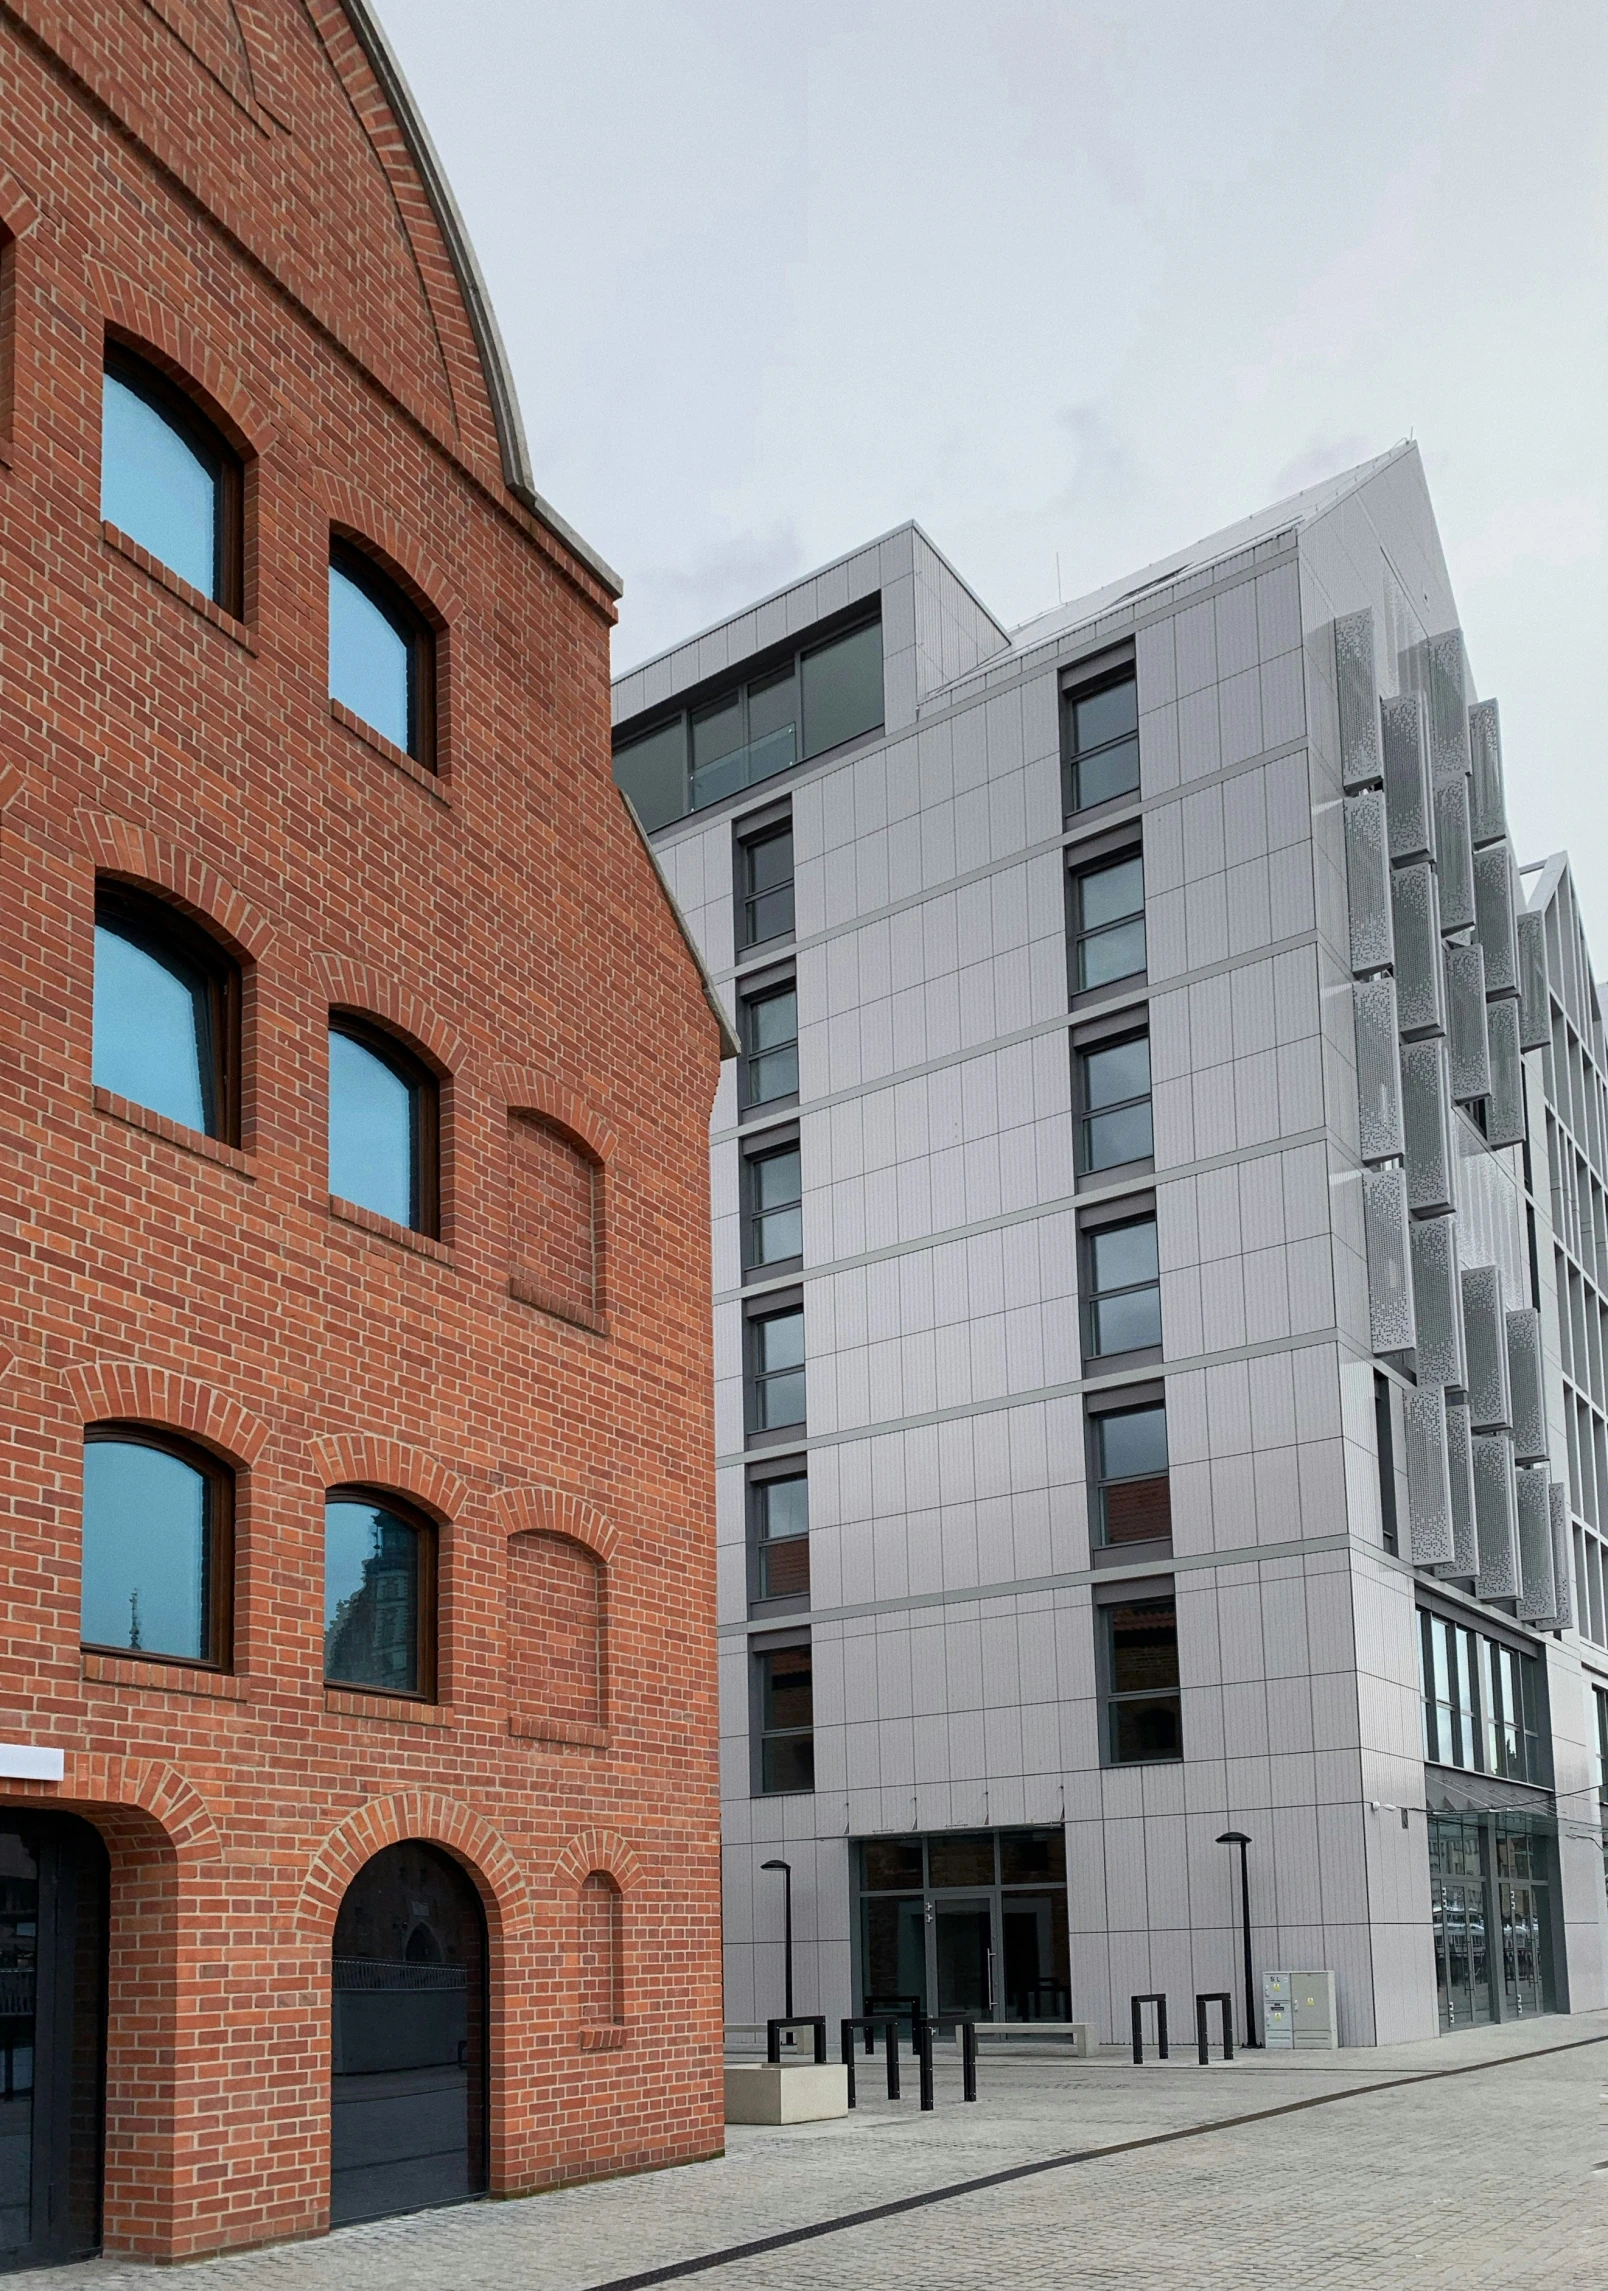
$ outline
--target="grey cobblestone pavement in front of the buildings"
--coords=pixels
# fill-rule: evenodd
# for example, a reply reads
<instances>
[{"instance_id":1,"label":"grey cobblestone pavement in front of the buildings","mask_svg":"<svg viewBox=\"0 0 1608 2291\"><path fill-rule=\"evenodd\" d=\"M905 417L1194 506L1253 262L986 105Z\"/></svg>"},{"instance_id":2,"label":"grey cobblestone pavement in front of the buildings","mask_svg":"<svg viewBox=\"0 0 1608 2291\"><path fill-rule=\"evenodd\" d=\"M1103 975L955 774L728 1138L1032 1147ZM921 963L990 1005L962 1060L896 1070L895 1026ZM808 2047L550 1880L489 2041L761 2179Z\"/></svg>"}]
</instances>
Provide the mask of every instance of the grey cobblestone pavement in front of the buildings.
<instances>
[{"instance_id":1,"label":"grey cobblestone pavement in front of the buildings","mask_svg":"<svg viewBox=\"0 0 1608 2291\"><path fill-rule=\"evenodd\" d=\"M1473 2073L1432 2073L1448 2069ZM848 2121L733 2126L717 2163L348 2227L199 2261L183 2280L195 2291L589 2291L1038 2158L1187 2133L685 2280L694 2291L1603 2291L1603 2076L1608 2014L1212 2069L985 2055L976 2108L962 2108L953 2069L939 2071L930 2117L914 2096L893 2108L864 2078ZM1338 2096L1354 2087L1365 2089ZM1223 2121L1301 2101L1319 2105ZM30 2282L151 2291L151 2277L101 2259Z\"/></svg>"}]
</instances>

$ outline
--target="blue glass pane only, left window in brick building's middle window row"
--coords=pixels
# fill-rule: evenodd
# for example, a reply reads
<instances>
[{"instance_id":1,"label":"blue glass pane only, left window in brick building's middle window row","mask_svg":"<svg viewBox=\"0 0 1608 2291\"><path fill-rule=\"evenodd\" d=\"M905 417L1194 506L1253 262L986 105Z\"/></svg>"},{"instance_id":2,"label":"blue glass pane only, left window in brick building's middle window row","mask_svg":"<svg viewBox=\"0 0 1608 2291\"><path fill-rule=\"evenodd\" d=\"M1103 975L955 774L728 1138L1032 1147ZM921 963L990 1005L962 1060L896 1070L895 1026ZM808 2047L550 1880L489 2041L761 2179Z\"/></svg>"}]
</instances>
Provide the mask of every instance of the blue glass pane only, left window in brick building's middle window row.
<instances>
[{"instance_id":1,"label":"blue glass pane only, left window in brick building's middle window row","mask_svg":"<svg viewBox=\"0 0 1608 2291\"><path fill-rule=\"evenodd\" d=\"M218 1134L206 981L108 923L94 930L94 1079L186 1129Z\"/></svg>"}]
</instances>

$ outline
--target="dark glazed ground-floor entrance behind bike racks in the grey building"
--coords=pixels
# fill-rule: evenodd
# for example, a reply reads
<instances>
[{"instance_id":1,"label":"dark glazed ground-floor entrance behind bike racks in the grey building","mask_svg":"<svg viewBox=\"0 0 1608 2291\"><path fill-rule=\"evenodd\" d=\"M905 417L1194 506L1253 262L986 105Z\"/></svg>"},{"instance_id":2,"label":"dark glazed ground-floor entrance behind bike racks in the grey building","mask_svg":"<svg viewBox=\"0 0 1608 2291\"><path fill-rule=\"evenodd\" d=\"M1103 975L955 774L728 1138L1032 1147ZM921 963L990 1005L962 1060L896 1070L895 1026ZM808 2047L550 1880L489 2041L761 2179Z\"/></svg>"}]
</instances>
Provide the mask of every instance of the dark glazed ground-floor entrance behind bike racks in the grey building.
<instances>
[{"instance_id":1,"label":"dark glazed ground-floor entrance behind bike racks in the grey building","mask_svg":"<svg viewBox=\"0 0 1608 2291\"><path fill-rule=\"evenodd\" d=\"M859 1991L980 2021L1070 2021L1065 1831L866 1837Z\"/></svg>"}]
</instances>

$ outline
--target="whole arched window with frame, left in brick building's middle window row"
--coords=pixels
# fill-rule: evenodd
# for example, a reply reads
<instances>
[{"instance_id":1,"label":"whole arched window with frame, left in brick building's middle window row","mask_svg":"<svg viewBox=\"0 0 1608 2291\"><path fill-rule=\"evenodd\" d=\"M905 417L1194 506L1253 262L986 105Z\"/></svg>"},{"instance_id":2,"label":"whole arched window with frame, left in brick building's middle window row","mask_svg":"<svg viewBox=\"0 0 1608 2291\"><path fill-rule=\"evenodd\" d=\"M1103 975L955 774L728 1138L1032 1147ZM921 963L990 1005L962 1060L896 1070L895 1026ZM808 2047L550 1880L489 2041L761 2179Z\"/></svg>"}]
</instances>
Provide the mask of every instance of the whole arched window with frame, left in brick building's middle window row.
<instances>
[{"instance_id":1,"label":"whole arched window with frame, left in brick building's middle window row","mask_svg":"<svg viewBox=\"0 0 1608 2291\"><path fill-rule=\"evenodd\" d=\"M238 965L167 900L101 882L94 900L98 1088L238 1146Z\"/></svg>"}]
</instances>

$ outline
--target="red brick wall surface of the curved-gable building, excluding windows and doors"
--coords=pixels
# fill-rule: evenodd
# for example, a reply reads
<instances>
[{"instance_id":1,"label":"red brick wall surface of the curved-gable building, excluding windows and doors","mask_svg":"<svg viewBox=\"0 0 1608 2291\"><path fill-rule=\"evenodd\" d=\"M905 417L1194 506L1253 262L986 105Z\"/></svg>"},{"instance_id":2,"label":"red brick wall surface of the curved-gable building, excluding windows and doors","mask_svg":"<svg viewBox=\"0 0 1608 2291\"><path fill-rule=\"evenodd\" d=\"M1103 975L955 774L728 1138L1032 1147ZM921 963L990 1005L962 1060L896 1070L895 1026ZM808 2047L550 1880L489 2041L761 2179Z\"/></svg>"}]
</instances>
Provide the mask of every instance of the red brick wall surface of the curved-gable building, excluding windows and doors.
<instances>
[{"instance_id":1,"label":"red brick wall surface of the curved-gable building, excluding windows and doors","mask_svg":"<svg viewBox=\"0 0 1608 2291\"><path fill-rule=\"evenodd\" d=\"M332 1927L403 1837L486 1911L492 2192L722 2144L719 1029L609 777L607 568L511 486L360 30L339 0L0 11L0 1737L66 1759L0 1794L110 1851L105 2245L147 2259L325 2227ZM101 522L108 339L243 458L238 616ZM433 774L328 696L332 529L438 625ZM96 873L238 955L238 1148L92 1088ZM337 1003L442 1077L440 1242L330 1205ZM511 1182L543 1171L593 1230L520 1281ZM238 1473L227 1670L80 1652L108 1418ZM438 1521L433 1705L323 1686L353 1480ZM552 1723L515 1535L570 1553Z\"/></svg>"}]
</instances>

